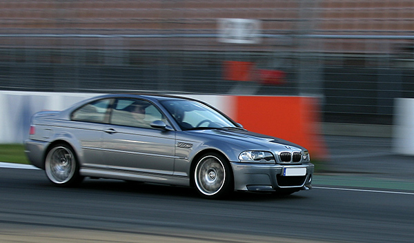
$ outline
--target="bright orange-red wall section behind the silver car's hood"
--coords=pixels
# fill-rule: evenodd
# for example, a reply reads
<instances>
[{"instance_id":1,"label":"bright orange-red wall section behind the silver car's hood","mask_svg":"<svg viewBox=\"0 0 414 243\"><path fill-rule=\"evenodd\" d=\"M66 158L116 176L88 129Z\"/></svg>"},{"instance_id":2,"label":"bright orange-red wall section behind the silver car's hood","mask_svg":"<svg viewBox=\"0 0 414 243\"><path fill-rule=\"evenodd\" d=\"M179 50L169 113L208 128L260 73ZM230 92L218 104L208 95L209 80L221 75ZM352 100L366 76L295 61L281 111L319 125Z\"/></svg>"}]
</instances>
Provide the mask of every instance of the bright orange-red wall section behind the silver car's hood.
<instances>
[{"instance_id":1,"label":"bright orange-red wall section behind the silver car's hood","mask_svg":"<svg viewBox=\"0 0 414 243\"><path fill-rule=\"evenodd\" d=\"M304 146L311 158L326 157L317 98L236 96L235 99L233 118L244 128Z\"/></svg>"}]
</instances>

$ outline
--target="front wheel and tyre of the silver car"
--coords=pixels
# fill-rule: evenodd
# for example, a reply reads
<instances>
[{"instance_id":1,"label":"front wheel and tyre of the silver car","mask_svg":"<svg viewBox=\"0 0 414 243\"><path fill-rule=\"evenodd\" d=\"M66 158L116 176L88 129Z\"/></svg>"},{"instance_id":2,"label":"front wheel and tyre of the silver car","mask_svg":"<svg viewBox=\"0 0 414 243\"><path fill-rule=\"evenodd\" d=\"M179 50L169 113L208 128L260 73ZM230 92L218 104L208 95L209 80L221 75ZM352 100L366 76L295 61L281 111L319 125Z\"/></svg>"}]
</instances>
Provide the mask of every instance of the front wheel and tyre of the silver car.
<instances>
[{"instance_id":1,"label":"front wheel and tyre of the silver car","mask_svg":"<svg viewBox=\"0 0 414 243\"><path fill-rule=\"evenodd\" d=\"M193 179L198 193L205 198L223 198L234 191L230 164L217 153L208 153L197 160Z\"/></svg>"}]
</instances>

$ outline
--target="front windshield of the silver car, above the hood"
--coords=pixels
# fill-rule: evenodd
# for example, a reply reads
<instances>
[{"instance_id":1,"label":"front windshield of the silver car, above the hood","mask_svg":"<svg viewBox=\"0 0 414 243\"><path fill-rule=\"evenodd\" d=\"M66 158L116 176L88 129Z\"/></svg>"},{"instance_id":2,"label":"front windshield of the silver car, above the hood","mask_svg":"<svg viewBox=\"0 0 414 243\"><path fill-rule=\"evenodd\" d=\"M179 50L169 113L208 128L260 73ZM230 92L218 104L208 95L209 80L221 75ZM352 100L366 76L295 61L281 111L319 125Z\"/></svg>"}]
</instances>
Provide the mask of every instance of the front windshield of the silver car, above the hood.
<instances>
[{"instance_id":1,"label":"front windshield of the silver car, above the hood","mask_svg":"<svg viewBox=\"0 0 414 243\"><path fill-rule=\"evenodd\" d=\"M166 100L161 104L182 130L237 128L232 121L213 108L190 100Z\"/></svg>"}]
</instances>

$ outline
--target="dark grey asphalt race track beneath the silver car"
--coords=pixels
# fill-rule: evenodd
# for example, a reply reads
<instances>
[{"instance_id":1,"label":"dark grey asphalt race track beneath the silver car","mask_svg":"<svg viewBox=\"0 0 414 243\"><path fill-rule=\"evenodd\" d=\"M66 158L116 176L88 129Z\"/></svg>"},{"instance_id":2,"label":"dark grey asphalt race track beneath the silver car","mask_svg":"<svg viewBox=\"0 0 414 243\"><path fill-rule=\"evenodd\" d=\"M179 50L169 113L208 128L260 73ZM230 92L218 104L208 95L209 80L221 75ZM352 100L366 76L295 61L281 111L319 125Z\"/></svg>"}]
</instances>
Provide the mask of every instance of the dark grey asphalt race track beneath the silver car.
<instances>
[{"instance_id":1,"label":"dark grey asphalt race track beneath the silver car","mask_svg":"<svg viewBox=\"0 0 414 243\"><path fill-rule=\"evenodd\" d=\"M410 186L335 178L287 197L204 200L191 188L109 179L58 188L43 171L0 168L0 242L413 242Z\"/></svg>"}]
</instances>

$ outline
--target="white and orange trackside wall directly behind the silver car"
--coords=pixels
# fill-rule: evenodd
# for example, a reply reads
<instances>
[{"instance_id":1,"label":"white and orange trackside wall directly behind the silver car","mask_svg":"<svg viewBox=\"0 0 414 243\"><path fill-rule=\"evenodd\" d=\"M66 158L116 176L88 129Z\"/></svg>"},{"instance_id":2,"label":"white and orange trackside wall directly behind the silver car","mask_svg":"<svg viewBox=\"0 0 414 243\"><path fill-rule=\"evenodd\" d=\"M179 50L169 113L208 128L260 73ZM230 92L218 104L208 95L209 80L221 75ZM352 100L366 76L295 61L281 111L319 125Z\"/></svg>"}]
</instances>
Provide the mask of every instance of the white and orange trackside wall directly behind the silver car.
<instances>
[{"instance_id":1,"label":"white and orange trackside wall directly behind the silver car","mask_svg":"<svg viewBox=\"0 0 414 243\"><path fill-rule=\"evenodd\" d=\"M97 93L26 93L0 91L0 144L23 143L30 117L40 110L63 110ZM302 145L316 157L326 155L313 97L185 95L215 106L256 133Z\"/></svg>"}]
</instances>

